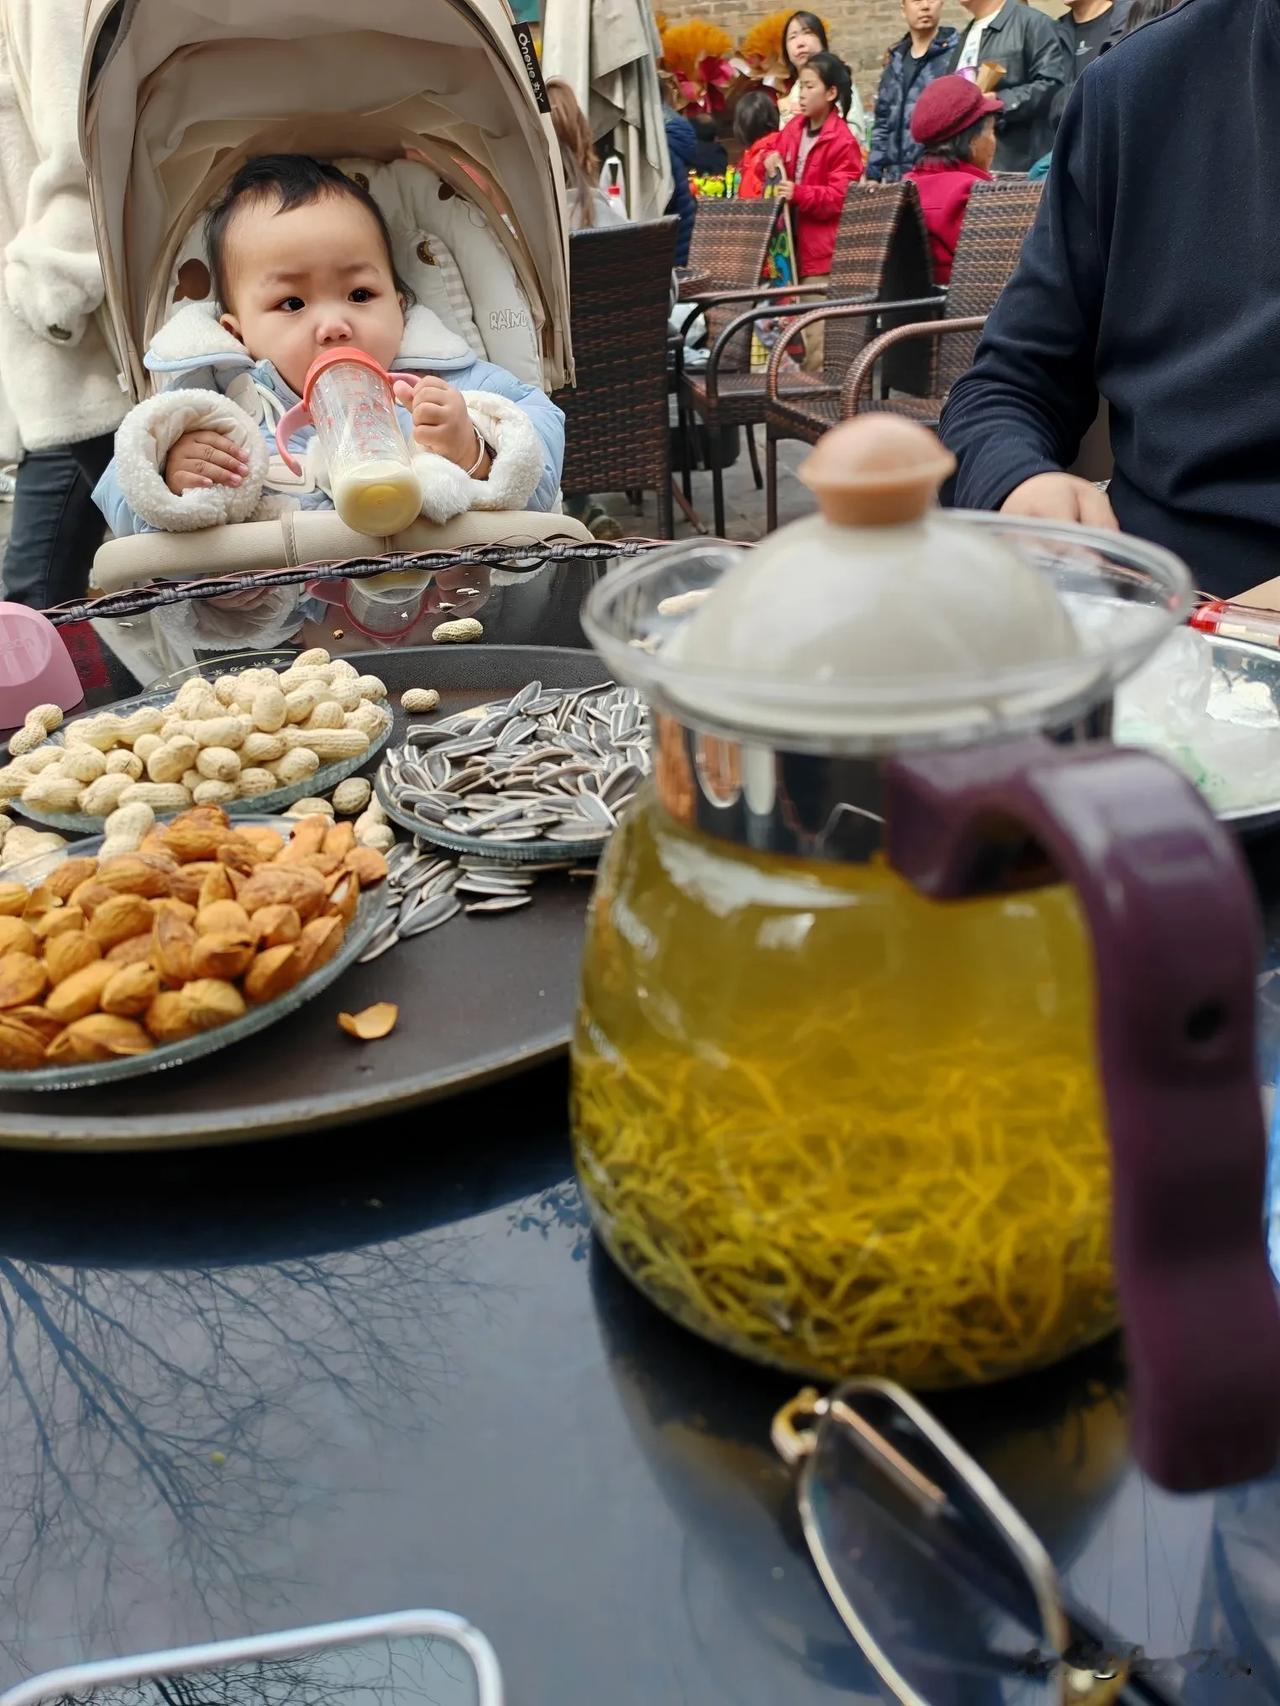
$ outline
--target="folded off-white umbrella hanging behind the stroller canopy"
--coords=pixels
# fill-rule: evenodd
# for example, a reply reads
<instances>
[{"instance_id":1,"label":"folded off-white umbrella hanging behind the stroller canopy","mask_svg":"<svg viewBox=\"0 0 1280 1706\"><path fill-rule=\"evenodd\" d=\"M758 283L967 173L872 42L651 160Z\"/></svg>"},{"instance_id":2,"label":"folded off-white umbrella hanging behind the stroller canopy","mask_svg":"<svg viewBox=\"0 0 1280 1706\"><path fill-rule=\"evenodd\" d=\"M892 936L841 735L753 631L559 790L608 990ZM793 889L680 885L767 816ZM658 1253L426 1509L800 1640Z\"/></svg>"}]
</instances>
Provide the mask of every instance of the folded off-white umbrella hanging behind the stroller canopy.
<instances>
[{"instance_id":1,"label":"folded off-white umbrella hanging behind the stroller canopy","mask_svg":"<svg viewBox=\"0 0 1280 1706\"><path fill-rule=\"evenodd\" d=\"M660 53L645 0L546 0L543 68L570 85L596 140L613 131L635 220L660 218L671 201Z\"/></svg>"}]
</instances>

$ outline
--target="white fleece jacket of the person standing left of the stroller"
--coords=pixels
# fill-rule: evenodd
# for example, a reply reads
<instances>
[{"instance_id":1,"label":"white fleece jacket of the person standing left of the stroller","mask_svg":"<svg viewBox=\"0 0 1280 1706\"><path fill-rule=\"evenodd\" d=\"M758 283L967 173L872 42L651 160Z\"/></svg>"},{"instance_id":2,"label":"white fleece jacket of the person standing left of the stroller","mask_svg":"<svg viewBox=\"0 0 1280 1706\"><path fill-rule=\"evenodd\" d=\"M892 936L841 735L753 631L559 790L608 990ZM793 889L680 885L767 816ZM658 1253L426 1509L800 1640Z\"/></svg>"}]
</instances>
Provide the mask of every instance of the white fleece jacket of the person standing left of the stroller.
<instances>
[{"instance_id":1,"label":"white fleece jacket of the person standing left of the stroller","mask_svg":"<svg viewBox=\"0 0 1280 1706\"><path fill-rule=\"evenodd\" d=\"M84 14L84 0L0 0L0 387L26 450L114 432L128 408L80 159Z\"/></svg>"}]
</instances>

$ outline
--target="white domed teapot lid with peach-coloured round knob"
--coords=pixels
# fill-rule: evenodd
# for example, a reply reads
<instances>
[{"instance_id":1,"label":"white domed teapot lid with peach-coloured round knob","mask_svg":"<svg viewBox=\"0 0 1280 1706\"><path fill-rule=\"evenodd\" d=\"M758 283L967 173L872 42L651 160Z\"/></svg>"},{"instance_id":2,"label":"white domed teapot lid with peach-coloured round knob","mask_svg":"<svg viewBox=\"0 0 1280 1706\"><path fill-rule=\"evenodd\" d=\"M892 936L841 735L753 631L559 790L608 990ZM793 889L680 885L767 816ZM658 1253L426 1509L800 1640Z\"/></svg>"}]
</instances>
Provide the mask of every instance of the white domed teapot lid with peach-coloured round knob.
<instances>
[{"instance_id":1,"label":"white domed teapot lid with peach-coloured round knob","mask_svg":"<svg viewBox=\"0 0 1280 1706\"><path fill-rule=\"evenodd\" d=\"M954 466L932 432L901 416L865 415L829 432L799 471L819 514L742 553L672 636L671 660L698 672L689 708L722 727L821 737L816 699L799 720L792 706L761 727L754 688L806 682L821 696L945 677L940 732L957 715L973 720L993 674L1017 667L1034 679L1038 665L1079 657L1063 601L1019 541L935 507ZM881 735L920 734L935 718L927 693L894 699L870 713ZM838 722L848 730L847 703Z\"/></svg>"}]
</instances>

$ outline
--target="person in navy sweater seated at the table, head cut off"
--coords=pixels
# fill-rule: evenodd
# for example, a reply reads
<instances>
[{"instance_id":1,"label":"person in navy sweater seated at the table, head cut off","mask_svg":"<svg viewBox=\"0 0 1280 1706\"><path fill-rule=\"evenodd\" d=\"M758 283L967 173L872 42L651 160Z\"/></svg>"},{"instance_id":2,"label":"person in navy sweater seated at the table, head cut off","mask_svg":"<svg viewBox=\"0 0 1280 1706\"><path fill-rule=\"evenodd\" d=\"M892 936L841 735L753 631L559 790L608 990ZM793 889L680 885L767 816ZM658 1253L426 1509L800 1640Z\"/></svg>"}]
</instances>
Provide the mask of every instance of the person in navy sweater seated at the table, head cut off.
<instances>
[{"instance_id":1,"label":"person in navy sweater seated at the table, head cut off","mask_svg":"<svg viewBox=\"0 0 1280 1706\"><path fill-rule=\"evenodd\" d=\"M1280 572L1277 87L1277 0L1188 0L1091 65L1017 270L942 415L956 503L1118 522L1219 597ZM1212 148L1200 123L1169 125L1191 111ZM1224 159L1256 171L1224 189ZM1099 397L1108 495L1067 473Z\"/></svg>"}]
</instances>

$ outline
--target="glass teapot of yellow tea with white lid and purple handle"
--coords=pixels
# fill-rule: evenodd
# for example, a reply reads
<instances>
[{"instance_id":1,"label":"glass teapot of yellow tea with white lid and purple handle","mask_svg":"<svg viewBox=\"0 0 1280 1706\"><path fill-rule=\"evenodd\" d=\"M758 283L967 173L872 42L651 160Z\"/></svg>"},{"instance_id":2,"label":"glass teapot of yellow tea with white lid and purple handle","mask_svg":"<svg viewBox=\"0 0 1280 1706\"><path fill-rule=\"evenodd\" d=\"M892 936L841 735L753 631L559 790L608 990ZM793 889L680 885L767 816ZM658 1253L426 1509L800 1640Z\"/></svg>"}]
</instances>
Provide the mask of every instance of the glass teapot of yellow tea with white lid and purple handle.
<instances>
[{"instance_id":1,"label":"glass teapot of yellow tea with white lid and purple handle","mask_svg":"<svg viewBox=\"0 0 1280 1706\"><path fill-rule=\"evenodd\" d=\"M998 1380L1123 1314L1143 1467L1244 1479L1280 1440L1256 914L1191 785L1099 739L1190 577L942 514L951 466L847 423L821 515L592 590L655 756L592 901L579 1177L642 1291L797 1373Z\"/></svg>"}]
</instances>

